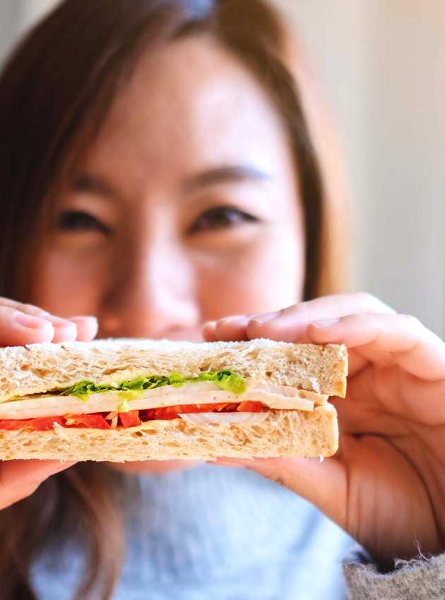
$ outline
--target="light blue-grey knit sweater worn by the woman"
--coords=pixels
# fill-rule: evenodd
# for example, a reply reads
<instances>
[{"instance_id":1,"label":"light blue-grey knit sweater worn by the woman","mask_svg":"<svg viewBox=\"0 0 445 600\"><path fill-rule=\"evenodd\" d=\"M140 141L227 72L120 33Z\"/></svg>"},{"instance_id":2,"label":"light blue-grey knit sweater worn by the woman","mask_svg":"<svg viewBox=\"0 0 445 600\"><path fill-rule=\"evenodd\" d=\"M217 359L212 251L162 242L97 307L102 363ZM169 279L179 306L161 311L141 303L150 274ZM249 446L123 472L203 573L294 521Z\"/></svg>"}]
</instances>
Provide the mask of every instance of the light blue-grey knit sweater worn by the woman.
<instances>
[{"instance_id":1,"label":"light blue-grey knit sweater worn by the woman","mask_svg":"<svg viewBox=\"0 0 445 600\"><path fill-rule=\"evenodd\" d=\"M138 479L113 600L445 599L445 556L379 575L336 524L254 473L203 465ZM82 557L76 546L42 556L39 598L71 599Z\"/></svg>"}]
</instances>

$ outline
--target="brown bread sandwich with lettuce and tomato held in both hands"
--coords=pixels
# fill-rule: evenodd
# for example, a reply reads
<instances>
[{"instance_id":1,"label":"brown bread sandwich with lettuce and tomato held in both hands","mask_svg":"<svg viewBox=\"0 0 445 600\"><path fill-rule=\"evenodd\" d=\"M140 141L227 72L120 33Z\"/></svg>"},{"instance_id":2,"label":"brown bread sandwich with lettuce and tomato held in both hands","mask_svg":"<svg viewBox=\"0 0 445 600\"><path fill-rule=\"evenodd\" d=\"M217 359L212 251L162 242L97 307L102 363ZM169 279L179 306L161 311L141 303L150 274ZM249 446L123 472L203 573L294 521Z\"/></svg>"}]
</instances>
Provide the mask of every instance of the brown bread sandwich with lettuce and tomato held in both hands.
<instances>
[{"instance_id":1,"label":"brown bread sandwich with lettuce and tomato held in both hands","mask_svg":"<svg viewBox=\"0 0 445 600\"><path fill-rule=\"evenodd\" d=\"M325 457L344 346L97 340L0 349L0 460Z\"/></svg>"}]
</instances>

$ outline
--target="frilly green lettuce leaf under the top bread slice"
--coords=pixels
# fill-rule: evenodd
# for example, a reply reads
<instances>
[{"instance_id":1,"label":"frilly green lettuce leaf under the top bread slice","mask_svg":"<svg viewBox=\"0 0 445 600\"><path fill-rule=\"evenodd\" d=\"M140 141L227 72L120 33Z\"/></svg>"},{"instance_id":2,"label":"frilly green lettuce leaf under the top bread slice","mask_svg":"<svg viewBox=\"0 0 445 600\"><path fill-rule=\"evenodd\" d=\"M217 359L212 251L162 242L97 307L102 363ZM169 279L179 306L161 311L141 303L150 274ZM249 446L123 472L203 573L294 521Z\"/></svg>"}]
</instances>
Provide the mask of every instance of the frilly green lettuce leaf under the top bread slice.
<instances>
[{"instance_id":1,"label":"frilly green lettuce leaf under the top bread slice","mask_svg":"<svg viewBox=\"0 0 445 600\"><path fill-rule=\"evenodd\" d=\"M170 376L150 375L138 377L121 383L97 384L93 381L83 380L71 385L69 388L54 390L54 393L62 396L77 396L81 400L88 400L91 394L100 392L120 392L125 400L133 400L140 397L145 390L162 388L165 385L174 385L179 387L184 383L194 383L195 381L212 381L222 390L232 392L236 395L246 391L246 382L244 378L232 371L205 371L195 377L183 377L180 373L172 373Z\"/></svg>"}]
</instances>

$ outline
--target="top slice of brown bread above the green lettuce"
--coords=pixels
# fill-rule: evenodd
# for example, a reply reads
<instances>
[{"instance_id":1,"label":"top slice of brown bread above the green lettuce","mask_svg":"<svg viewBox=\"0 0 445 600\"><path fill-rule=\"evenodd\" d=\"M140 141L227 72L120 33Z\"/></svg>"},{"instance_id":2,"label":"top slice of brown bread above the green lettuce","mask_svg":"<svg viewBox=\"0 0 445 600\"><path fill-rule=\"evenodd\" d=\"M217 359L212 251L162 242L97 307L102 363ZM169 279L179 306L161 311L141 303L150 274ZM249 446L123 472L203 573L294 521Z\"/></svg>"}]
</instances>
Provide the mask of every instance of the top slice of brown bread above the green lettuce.
<instances>
[{"instance_id":1,"label":"top slice of brown bread above the green lettuce","mask_svg":"<svg viewBox=\"0 0 445 600\"><path fill-rule=\"evenodd\" d=\"M268 381L344 397L348 353L344 346L249 342L97 340L30 344L0 349L0 402L68 388L81 380L119 383L139 376L197 376L230 370Z\"/></svg>"}]
</instances>

